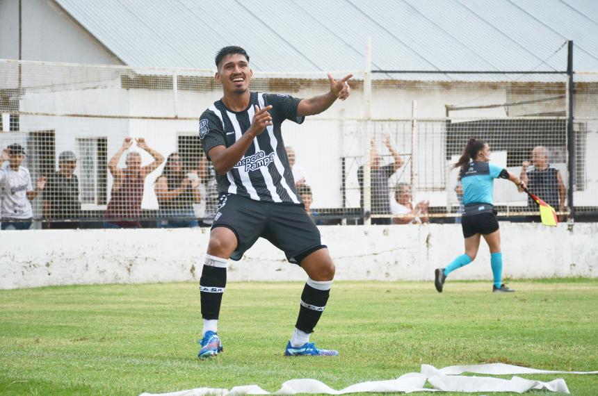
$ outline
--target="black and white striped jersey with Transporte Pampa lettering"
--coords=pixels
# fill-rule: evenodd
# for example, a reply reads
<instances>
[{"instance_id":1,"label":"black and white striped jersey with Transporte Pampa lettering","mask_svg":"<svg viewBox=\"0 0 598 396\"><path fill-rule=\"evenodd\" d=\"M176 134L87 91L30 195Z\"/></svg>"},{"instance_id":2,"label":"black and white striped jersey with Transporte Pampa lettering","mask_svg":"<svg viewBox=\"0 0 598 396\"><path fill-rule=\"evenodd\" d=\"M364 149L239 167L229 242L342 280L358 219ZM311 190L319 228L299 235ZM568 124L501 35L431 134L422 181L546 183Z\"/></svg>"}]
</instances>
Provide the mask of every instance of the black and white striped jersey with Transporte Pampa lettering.
<instances>
[{"instance_id":1,"label":"black and white striped jersey with Transporte Pampa lettering","mask_svg":"<svg viewBox=\"0 0 598 396\"><path fill-rule=\"evenodd\" d=\"M218 192L230 193L255 201L301 204L293 181L293 172L286 156L280 126L285 119L301 124L305 117L297 115L301 99L282 94L251 92L248 108L229 110L222 100L214 102L200 118L200 139L206 156L213 147L230 147L251 125L254 105L272 105L272 125L253 140L253 144L226 174L216 174Z\"/></svg>"}]
</instances>

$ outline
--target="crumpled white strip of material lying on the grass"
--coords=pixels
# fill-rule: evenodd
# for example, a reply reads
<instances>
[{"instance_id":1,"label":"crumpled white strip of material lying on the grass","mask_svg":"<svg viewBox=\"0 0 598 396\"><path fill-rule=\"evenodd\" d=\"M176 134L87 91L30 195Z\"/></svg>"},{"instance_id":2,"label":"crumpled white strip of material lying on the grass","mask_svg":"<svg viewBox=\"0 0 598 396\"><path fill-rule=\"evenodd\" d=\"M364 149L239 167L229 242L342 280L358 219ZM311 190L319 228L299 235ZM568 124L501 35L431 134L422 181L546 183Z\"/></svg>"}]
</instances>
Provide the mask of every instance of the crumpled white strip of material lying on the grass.
<instances>
[{"instance_id":1,"label":"crumpled white strip of material lying on the grass","mask_svg":"<svg viewBox=\"0 0 598 396\"><path fill-rule=\"evenodd\" d=\"M410 372L397 379L386 381L367 381L355 383L347 388L336 390L316 379L291 379L282 384L274 395L295 395L296 393L323 393L327 395L343 395L359 392L516 392L528 390L549 390L567 393L569 388L564 379L543 382L521 377L501 379L494 377L467 377L464 372L490 375L512 374L598 374L598 371L551 371L535 368L519 367L503 363L483 365L451 365L437 369L431 365L421 365L420 372ZM426 381L432 388L424 388ZM171 393L142 393L140 396L202 396L202 395L271 395L272 393L257 385L235 386L228 390L223 388L195 388Z\"/></svg>"}]
</instances>

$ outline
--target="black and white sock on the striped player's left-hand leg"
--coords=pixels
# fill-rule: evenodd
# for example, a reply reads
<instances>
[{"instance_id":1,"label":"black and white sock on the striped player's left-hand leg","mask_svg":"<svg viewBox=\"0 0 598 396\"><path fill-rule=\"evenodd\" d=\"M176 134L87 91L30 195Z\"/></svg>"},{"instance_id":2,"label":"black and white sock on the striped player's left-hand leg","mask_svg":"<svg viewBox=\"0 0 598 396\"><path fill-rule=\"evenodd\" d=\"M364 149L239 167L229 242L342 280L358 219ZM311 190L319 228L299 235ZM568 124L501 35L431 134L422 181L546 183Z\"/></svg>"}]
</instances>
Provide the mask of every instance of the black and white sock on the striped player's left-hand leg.
<instances>
[{"instance_id":1,"label":"black and white sock on the striped player's left-hand leg","mask_svg":"<svg viewBox=\"0 0 598 396\"><path fill-rule=\"evenodd\" d=\"M204 329L214 331L218 329L218 315L220 303L226 287L226 267L228 260L206 254L202 277L200 278L200 295L202 302L202 317Z\"/></svg>"}]
</instances>

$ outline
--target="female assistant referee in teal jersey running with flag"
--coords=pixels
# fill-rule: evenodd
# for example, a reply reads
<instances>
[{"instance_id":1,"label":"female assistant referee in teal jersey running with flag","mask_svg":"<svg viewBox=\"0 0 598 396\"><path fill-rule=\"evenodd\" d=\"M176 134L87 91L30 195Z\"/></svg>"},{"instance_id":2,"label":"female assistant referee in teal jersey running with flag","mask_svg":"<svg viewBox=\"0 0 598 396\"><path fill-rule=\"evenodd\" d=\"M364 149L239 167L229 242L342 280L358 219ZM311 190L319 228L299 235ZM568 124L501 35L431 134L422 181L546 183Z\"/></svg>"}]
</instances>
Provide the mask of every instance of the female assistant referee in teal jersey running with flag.
<instances>
[{"instance_id":1,"label":"female assistant referee in teal jersey running with flag","mask_svg":"<svg viewBox=\"0 0 598 396\"><path fill-rule=\"evenodd\" d=\"M525 183L515 175L490 162L490 146L483 140L470 139L454 167L460 167L459 178L463 186L465 211L461 218L461 228L465 238L465 253L458 256L445 268L435 270L435 286L442 292L448 274L471 263L478 254L480 236L490 247L490 265L494 277L492 292L515 292L501 283L503 254L501 253L501 231L496 221L496 211L492 206L494 179L508 179L519 189Z\"/></svg>"}]
</instances>

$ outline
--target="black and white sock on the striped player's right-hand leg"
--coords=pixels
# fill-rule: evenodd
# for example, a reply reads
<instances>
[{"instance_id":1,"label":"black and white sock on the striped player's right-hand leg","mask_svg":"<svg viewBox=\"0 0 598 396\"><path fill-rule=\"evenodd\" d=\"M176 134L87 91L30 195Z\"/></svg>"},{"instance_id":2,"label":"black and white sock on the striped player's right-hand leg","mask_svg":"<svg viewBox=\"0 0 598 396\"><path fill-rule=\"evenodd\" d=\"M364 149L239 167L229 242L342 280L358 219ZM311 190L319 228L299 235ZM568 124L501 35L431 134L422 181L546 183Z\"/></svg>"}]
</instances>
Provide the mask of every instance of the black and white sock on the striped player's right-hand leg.
<instances>
[{"instance_id":1,"label":"black and white sock on the striped player's right-hand leg","mask_svg":"<svg viewBox=\"0 0 598 396\"><path fill-rule=\"evenodd\" d=\"M318 320L320 320L326 307L326 302L328 302L331 287L332 281L318 282L309 278L307 279L307 283L305 283L305 287L301 293L301 306L299 307L299 316L295 324L297 330L307 334L314 332L314 327L318 324Z\"/></svg>"}]
</instances>

